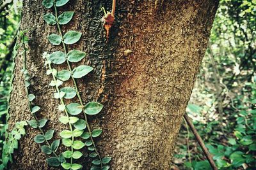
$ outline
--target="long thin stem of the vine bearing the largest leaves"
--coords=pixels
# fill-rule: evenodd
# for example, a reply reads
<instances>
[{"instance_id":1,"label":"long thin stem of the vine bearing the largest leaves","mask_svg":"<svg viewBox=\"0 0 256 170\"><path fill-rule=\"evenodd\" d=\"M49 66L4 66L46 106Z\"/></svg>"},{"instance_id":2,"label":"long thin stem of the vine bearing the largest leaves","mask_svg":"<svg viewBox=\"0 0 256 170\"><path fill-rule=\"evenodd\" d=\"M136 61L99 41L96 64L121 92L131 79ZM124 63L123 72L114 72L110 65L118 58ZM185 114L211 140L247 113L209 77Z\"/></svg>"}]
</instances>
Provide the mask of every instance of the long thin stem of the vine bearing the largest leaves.
<instances>
[{"instance_id":1,"label":"long thin stem of the vine bearing the largest leaves","mask_svg":"<svg viewBox=\"0 0 256 170\"><path fill-rule=\"evenodd\" d=\"M66 57L67 57L67 53L68 53L68 52L67 52L67 47L66 47L66 45L65 45L65 43L64 43L64 41L63 41L63 34L62 34L62 32L61 32L60 24L59 24L59 22L58 22L58 11L57 11L57 8L56 8L56 5L55 5L55 4L54 4L54 10L55 10L55 18L56 18L56 23L57 23L58 31L60 32L60 36L61 36L61 43L62 43L62 45L63 45L65 55L66 55ZM72 73L72 67L70 66L70 62L68 62L67 59L66 59L66 61L67 61L68 69L69 69L69 71ZM76 94L77 94L77 97L78 97L78 99L79 99L79 102L80 102L81 106L84 106L83 100L82 100L82 98L81 98L81 96L80 96L80 94L79 94L79 89L78 89L78 87L77 87L76 80L75 80L75 78L73 77L72 74L71 74L71 78L72 78L72 81L73 81L73 83L74 83L74 86L75 86L75 89L76 89ZM91 131L91 129L90 129L90 125L88 124L88 118L87 118L86 113L85 113L84 110L83 110L83 113L84 113L84 120L85 120L85 122L86 122L86 127L87 127L87 129L88 129L89 134L90 134L90 139L91 139L91 141L92 141L93 147L95 148L95 153L97 153L97 155L98 155L98 157L99 157L99 160L100 160L100 167L102 167L102 160L101 160L100 154L99 154L99 152L98 152L98 150L97 150L97 148L96 148L95 142L94 142L94 140L93 140L92 131Z\"/></svg>"}]
</instances>

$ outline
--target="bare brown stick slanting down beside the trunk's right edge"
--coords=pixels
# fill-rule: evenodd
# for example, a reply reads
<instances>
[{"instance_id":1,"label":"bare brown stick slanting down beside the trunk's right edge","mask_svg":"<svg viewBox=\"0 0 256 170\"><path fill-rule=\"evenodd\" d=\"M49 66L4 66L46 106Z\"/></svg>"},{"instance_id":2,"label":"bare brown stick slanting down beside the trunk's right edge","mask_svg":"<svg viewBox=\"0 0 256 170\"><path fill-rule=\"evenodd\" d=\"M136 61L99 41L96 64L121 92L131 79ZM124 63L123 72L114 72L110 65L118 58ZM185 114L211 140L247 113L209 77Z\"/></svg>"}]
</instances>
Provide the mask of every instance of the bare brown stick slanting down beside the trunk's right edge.
<instances>
[{"instance_id":1,"label":"bare brown stick slanting down beside the trunk's right edge","mask_svg":"<svg viewBox=\"0 0 256 170\"><path fill-rule=\"evenodd\" d=\"M212 159L212 155L211 153L209 153L209 151L207 150L207 148L204 145L204 141L202 140L202 138L200 137L200 135L198 134L198 132L195 129L195 126L193 125L193 123L189 120L188 114L185 113L184 114L184 118L186 120L186 122L189 125L189 128L191 129L191 131L193 132L193 134L195 135L196 141L198 142L198 144L200 145L200 147L202 148L205 157L207 158L207 160L209 161L212 169L214 170L218 170L218 168L216 167L213 159Z\"/></svg>"}]
</instances>

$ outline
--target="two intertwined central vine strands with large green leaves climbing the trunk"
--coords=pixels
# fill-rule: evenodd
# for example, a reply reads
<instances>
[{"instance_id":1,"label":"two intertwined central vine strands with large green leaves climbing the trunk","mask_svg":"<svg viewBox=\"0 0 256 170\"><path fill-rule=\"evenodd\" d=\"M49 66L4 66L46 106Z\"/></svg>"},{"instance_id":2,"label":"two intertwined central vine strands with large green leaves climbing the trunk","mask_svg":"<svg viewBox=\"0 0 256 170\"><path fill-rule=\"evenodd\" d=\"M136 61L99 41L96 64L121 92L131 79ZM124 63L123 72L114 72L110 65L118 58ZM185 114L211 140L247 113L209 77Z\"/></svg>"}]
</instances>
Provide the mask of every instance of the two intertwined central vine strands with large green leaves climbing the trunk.
<instances>
[{"instance_id":1,"label":"two intertwined central vine strands with large green leaves climbing the trunk","mask_svg":"<svg viewBox=\"0 0 256 170\"><path fill-rule=\"evenodd\" d=\"M81 32L77 31L67 31L64 35L61 30L61 25L68 24L74 15L74 11L64 11L61 15L58 15L58 7L64 6L69 0L44 0L42 2L45 8L53 8L54 13L47 13L44 15L44 20L49 25L56 25L58 29L57 34L51 34L48 36L49 42L52 45L62 45L63 50L56 51L52 53L45 52L43 57L45 59L45 66L48 67L47 74L52 76L52 81L49 84L55 87L56 92L54 93L54 98L60 100L60 105L58 109L63 111L64 115L60 117L60 122L62 124L67 124L68 129L60 132L60 137L62 138L63 145L67 146L67 150L63 153L63 157L68 159L67 162L61 162L61 166L64 169L81 169L83 166L81 164L75 163L77 159L83 156L80 151L85 146L90 151L89 157L92 158L91 169L109 169L108 163L111 157L100 157L100 153L95 145L94 138L97 138L102 133L102 129L93 129L88 123L88 116L97 115L103 108L103 105L95 101L84 104L83 99L79 94L79 89L77 86L77 79L86 76L88 73L93 71L93 67L90 66L77 66L74 69L71 66L72 62L79 62L85 56L86 53L79 50L70 50L68 52L67 45L72 45L77 43L81 38ZM54 69L53 64L67 64L68 69L57 70ZM72 80L73 87L61 87L63 81ZM67 104L68 101L77 97L78 103L71 102ZM83 113L82 116L79 116ZM49 161L49 159L51 161ZM47 159L50 166L55 166L58 162L57 157L51 157Z\"/></svg>"}]
</instances>

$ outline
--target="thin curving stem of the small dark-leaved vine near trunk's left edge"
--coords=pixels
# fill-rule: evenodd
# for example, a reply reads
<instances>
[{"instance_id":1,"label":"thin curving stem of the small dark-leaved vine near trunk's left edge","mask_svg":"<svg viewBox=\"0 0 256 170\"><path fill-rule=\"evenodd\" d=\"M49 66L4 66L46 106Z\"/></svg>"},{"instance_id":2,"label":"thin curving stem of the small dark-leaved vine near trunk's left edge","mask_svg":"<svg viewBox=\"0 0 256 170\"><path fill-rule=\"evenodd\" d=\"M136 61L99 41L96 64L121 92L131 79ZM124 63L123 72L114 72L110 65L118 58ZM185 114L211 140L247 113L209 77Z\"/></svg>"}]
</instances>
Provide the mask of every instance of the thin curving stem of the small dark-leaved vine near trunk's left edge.
<instances>
[{"instance_id":1,"label":"thin curving stem of the small dark-leaved vine near trunk's left edge","mask_svg":"<svg viewBox=\"0 0 256 170\"><path fill-rule=\"evenodd\" d=\"M24 35L23 35L23 34L22 34L22 45L23 45L23 48L24 48L23 70L26 71L26 70L27 70L27 69L26 69L26 46L25 46L25 39L24 39ZM26 81L26 80L24 79L24 81ZM28 92L28 88L27 88L27 87L25 88L25 91L26 91L26 94L27 94L27 96L28 96L28 95L29 95L29 92ZM31 111L31 108L32 108L31 101L28 100L28 104L29 104L29 109L30 109L30 111ZM45 136L44 131L42 130L41 127L39 127L38 120L37 120L35 114L32 113L32 115L33 115L33 118L36 120L36 125L37 125L38 129L39 129L40 132ZM47 140L45 140L45 141L46 141L47 145L51 148L50 143L49 143ZM56 152L54 152L53 150L52 150L52 153L53 153L56 157L58 157L58 155L56 154Z\"/></svg>"}]
</instances>

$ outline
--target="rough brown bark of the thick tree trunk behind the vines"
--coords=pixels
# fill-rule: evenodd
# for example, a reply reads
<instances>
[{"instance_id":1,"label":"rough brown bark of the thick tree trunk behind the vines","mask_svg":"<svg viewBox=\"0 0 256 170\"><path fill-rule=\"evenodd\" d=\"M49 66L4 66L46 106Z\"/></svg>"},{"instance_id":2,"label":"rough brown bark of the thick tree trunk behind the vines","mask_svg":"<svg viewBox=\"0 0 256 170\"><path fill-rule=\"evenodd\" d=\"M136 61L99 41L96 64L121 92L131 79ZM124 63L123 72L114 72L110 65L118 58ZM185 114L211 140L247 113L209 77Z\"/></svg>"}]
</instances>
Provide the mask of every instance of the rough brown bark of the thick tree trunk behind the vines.
<instances>
[{"instance_id":1,"label":"rough brown bark of the thick tree trunk behind the vines","mask_svg":"<svg viewBox=\"0 0 256 170\"><path fill-rule=\"evenodd\" d=\"M60 132L62 113L53 99L54 88L45 74L43 52L54 52L47 35L56 27L45 24L42 1L24 1L21 29L28 30L28 71L38 118L48 118L47 129ZM97 141L102 155L109 155L111 169L170 169L180 122L204 56L218 1L117 1L116 22L106 42L100 8L111 2L70 0L61 11L76 11L63 31L77 30L83 38L76 48L88 53L81 63L93 73L78 81L84 102L104 103L104 110L90 118L93 127L104 129ZM132 53L125 53L131 50ZM15 60L11 96L10 127L31 114L24 90L22 57ZM80 64L81 64L80 63ZM75 65L74 65L75 66ZM73 67L74 67L73 66ZM54 66L56 68L56 66ZM65 68L63 66L58 69ZM72 82L65 83L65 86ZM69 101L67 101L69 102ZM50 169L33 138L38 131L27 129L10 169ZM56 133L54 138L59 138ZM87 162L83 162L84 169ZM88 167L88 166L87 166Z\"/></svg>"}]
</instances>

